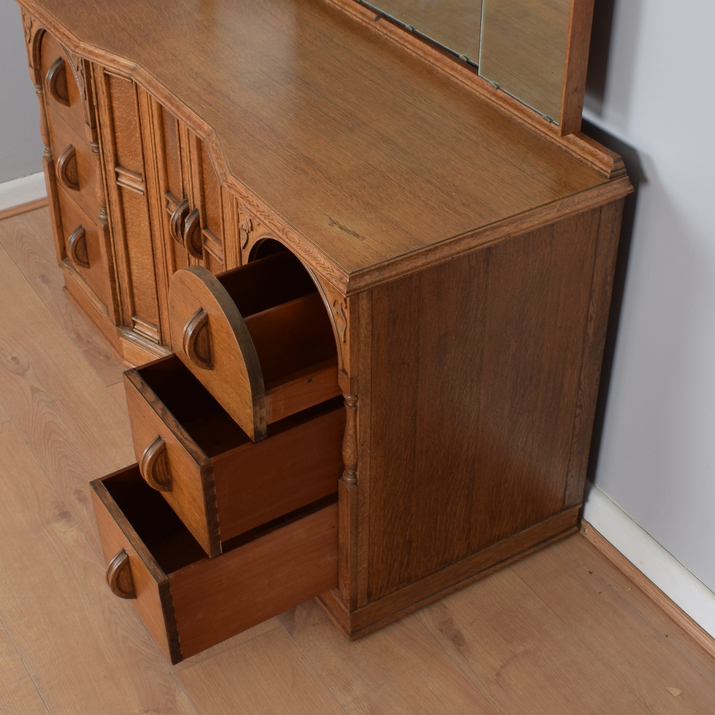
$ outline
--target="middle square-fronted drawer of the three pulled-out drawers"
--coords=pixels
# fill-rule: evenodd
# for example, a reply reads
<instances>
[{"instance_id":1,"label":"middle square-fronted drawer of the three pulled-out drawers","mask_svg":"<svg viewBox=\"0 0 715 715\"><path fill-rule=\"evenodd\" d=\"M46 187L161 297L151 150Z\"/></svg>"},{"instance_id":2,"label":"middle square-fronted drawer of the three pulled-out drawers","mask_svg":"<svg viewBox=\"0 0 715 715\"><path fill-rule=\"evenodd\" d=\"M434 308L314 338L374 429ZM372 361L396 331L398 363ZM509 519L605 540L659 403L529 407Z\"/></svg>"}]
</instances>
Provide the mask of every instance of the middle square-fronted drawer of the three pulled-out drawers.
<instances>
[{"instance_id":1,"label":"middle square-fronted drawer of the three pulled-out drawers","mask_svg":"<svg viewBox=\"0 0 715 715\"><path fill-rule=\"evenodd\" d=\"M254 443L175 355L128 370L124 386L142 475L209 556L337 490L340 399L272 424Z\"/></svg>"}]
</instances>

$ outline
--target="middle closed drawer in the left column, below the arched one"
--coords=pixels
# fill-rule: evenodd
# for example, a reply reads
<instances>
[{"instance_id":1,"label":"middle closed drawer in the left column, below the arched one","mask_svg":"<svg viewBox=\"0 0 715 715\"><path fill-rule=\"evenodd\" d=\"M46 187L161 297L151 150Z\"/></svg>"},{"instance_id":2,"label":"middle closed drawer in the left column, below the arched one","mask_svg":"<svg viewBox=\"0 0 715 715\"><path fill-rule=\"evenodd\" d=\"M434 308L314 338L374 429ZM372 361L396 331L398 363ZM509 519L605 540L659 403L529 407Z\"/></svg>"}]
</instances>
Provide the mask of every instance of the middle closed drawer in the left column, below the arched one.
<instances>
[{"instance_id":1,"label":"middle closed drawer in the left column, below the arched one","mask_svg":"<svg viewBox=\"0 0 715 715\"><path fill-rule=\"evenodd\" d=\"M51 122L50 142L57 185L94 220L99 216L99 158L87 139L60 119Z\"/></svg>"}]
</instances>

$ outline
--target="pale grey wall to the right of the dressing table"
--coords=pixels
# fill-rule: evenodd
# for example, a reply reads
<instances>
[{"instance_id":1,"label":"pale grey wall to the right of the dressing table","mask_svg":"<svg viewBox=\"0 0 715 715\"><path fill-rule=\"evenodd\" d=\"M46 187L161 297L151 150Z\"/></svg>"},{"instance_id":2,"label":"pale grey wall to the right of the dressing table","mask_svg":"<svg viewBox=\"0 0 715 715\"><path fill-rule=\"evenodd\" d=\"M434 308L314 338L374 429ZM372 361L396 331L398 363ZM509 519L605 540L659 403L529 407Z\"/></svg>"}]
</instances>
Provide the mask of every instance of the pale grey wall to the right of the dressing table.
<instances>
[{"instance_id":1,"label":"pale grey wall to the right of the dressing table","mask_svg":"<svg viewBox=\"0 0 715 715\"><path fill-rule=\"evenodd\" d=\"M586 116L641 182L594 481L715 591L715 4L596 13Z\"/></svg>"}]
</instances>

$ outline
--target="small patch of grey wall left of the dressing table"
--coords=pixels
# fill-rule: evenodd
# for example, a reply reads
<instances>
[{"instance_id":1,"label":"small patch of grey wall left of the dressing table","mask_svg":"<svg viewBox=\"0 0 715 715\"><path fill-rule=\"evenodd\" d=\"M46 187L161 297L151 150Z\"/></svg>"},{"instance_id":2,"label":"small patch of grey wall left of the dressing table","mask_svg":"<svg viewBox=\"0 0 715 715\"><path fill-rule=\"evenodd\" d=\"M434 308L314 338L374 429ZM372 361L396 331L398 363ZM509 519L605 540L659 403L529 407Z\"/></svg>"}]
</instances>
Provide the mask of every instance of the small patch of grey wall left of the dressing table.
<instances>
[{"instance_id":1,"label":"small patch of grey wall left of the dressing table","mask_svg":"<svg viewBox=\"0 0 715 715\"><path fill-rule=\"evenodd\" d=\"M0 183L42 171L39 103L19 5L0 0Z\"/></svg>"}]
</instances>

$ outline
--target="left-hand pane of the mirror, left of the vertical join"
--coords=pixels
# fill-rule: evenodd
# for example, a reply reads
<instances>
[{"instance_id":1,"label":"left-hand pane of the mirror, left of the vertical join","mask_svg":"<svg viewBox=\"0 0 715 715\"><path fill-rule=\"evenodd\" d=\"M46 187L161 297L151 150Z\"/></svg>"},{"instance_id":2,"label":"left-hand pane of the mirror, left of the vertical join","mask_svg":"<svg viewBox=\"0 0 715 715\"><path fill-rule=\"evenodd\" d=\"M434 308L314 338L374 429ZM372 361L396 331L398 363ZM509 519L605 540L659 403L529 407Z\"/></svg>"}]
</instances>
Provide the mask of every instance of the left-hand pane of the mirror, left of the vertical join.
<instances>
[{"instance_id":1,"label":"left-hand pane of the mirror, left of the vertical join","mask_svg":"<svg viewBox=\"0 0 715 715\"><path fill-rule=\"evenodd\" d=\"M482 0L370 0L363 4L477 63Z\"/></svg>"}]
</instances>

